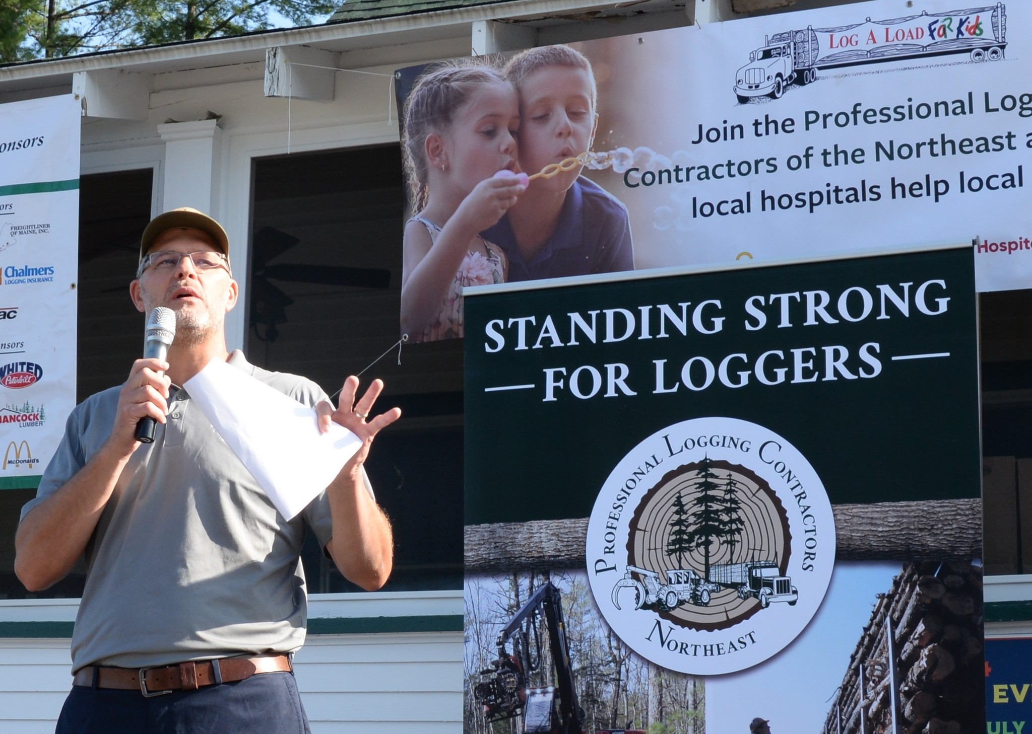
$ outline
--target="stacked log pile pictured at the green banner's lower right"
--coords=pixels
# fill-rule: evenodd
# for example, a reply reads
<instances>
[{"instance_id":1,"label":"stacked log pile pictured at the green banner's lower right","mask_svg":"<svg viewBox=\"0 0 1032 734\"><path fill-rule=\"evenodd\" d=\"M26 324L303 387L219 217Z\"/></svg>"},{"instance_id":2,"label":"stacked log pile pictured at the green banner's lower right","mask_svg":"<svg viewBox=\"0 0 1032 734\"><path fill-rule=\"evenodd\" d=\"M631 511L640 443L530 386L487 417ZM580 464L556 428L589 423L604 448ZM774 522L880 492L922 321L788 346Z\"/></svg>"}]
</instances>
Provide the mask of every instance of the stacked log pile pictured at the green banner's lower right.
<instances>
[{"instance_id":1,"label":"stacked log pile pictured at the green banner's lower right","mask_svg":"<svg viewBox=\"0 0 1032 734\"><path fill-rule=\"evenodd\" d=\"M981 568L903 567L878 597L823 734L981 734Z\"/></svg>"}]
</instances>

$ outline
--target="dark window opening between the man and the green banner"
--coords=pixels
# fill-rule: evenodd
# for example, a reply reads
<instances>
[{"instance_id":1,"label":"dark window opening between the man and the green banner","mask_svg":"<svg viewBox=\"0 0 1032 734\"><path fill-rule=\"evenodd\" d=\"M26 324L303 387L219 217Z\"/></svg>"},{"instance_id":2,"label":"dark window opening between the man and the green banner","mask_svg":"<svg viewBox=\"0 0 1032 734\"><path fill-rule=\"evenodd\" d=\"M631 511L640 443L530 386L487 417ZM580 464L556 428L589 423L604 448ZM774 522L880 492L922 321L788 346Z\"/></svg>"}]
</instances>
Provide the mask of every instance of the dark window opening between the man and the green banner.
<instances>
[{"instance_id":1,"label":"dark window opening between the man and the green banner","mask_svg":"<svg viewBox=\"0 0 1032 734\"><path fill-rule=\"evenodd\" d=\"M405 197L397 145L255 162L247 354L335 393L398 339ZM237 277L243 274L237 273ZM462 581L462 342L395 347L362 375L404 418L366 463L394 526L389 591ZM312 592L354 591L310 539Z\"/></svg>"}]
</instances>

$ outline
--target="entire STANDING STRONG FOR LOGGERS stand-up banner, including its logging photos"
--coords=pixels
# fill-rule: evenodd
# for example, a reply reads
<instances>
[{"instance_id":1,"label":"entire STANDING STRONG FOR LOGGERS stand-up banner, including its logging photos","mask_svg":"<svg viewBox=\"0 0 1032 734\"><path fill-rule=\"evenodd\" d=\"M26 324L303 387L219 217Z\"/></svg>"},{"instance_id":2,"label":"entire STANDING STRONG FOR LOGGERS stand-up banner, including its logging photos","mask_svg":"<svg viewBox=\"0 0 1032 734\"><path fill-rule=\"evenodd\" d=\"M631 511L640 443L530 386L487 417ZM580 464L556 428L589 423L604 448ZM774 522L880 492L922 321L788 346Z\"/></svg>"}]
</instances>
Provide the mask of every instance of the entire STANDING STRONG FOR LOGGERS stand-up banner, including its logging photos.
<instances>
[{"instance_id":1,"label":"entire STANDING STRONG FOR LOGGERS stand-up banner, including its logging photos","mask_svg":"<svg viewBox=\"0 0 1032 734\"><path fill-rule=\"evenodd\" d=\"M926 611L945 613L932 587L964 591L963 634L980 635L971 563L896 565L865 586L866 602L844 587L826 599L840 532L870 544L852 558L884 558L854 528L836 529L833 505L890 527L900 512L979 497L975 257L966 244L467 291L466 559L496 573L466 579L465 731L512 715L535 730L536 710L557 706L561 718L571 696L598 710L605 685L576 678L616 659L627 696L648 698L665 685L656 676L687 686L685 675L748 674L713 690L781 691L756 700L792 701L791 719L819 728L840 685L841 705L856 698L854 648L872 663L916 664L884 640L909 637ZM581 541L570 561L566 548ZM531 565L520 548L541 556ZM552 556L565 565L543 568ZM802 679L792 650L841 637L837 616L866 631L819 666L827 691L804 700L788 690ZM556 641L544 628L565 632ZM962 660L962 648L949 685L980 695L980 660ZM744 730L774 710L696 703L677 721L712 715L721 731ZM675 721L648 711L650 723Z\"/></svg>"}]
</instances>

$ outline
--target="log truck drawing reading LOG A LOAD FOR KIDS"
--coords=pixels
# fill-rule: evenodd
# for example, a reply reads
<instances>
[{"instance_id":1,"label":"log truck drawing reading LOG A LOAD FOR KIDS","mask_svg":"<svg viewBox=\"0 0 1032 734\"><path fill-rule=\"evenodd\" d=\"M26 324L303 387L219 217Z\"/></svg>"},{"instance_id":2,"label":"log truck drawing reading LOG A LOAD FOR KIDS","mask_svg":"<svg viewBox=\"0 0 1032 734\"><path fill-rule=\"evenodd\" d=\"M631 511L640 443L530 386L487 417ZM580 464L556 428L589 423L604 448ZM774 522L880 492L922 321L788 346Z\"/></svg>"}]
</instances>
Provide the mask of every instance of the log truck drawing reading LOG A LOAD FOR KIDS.
<instances>
[{"instance_id":1,"label":"log truck drawing reading LOG A LOAD FOR KIDS","mask_svg":"<svg viewBox=\"0 0 1032 734\"><path fill-rule=\"evenodd\" d=\"M767 36L735 75L735 94L778 99L793 84L808 85L819 69L967 54L971 61L999 61L1006 47L1006 6L1001 3L928 12L839 28L783 31Z\"/></svg>"}]
</instances>

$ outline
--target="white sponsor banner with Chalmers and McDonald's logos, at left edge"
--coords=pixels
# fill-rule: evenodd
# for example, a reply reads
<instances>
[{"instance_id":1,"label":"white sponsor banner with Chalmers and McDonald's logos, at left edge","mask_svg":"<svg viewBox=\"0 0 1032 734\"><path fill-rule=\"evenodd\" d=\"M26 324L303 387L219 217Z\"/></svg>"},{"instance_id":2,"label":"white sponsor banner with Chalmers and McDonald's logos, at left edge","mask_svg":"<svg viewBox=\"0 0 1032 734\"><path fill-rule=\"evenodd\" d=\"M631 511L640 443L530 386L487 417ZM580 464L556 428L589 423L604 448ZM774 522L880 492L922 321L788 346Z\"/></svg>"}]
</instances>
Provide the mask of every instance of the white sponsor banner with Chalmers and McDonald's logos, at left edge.
<instances>
[{"instance_id":1,"label":"white sponsor banner with Chalmers and McDonald's logos, at left edge","mask_svg":"<svg viewBox=\"0 0 1032 734\"><path fill-rule=\"evenodd\" d=\"M0 105L0 489L35 486L75 405L80 119Z\"/></svg>"}]
</instances>

